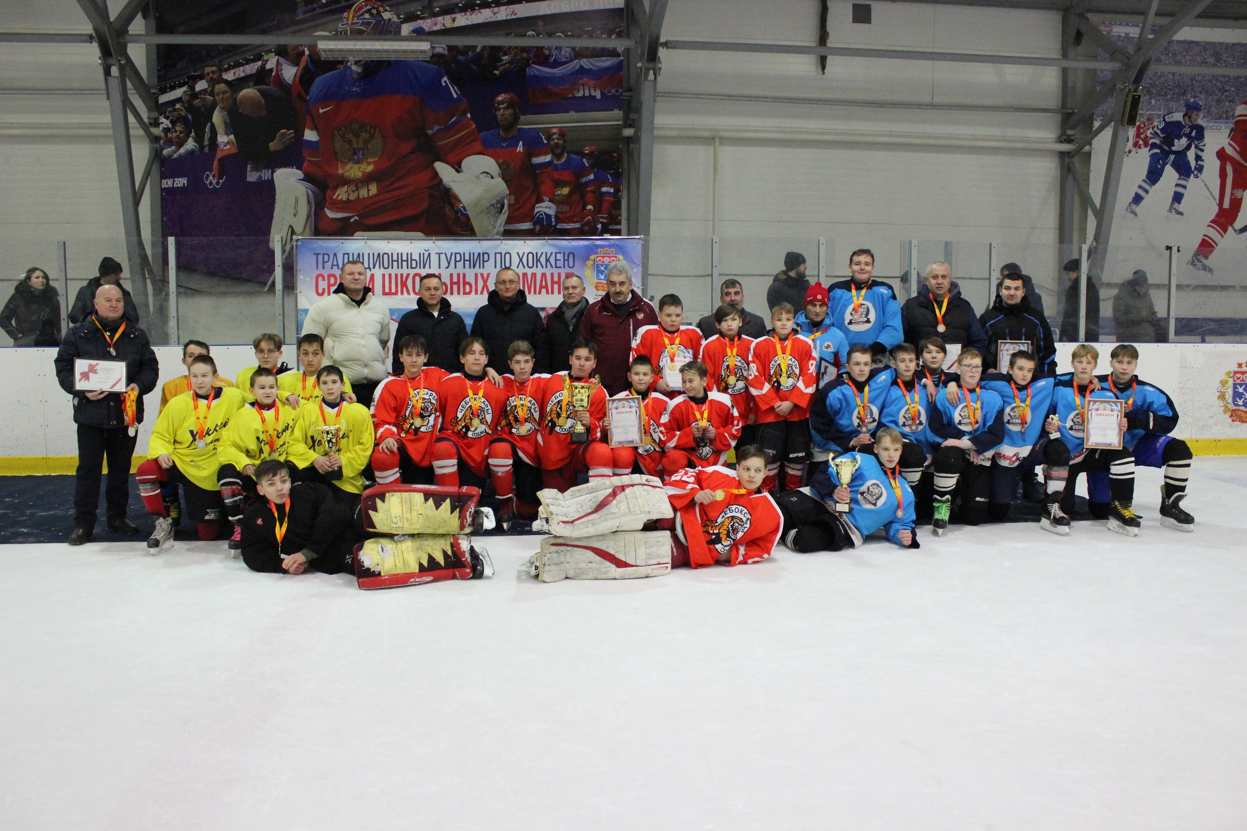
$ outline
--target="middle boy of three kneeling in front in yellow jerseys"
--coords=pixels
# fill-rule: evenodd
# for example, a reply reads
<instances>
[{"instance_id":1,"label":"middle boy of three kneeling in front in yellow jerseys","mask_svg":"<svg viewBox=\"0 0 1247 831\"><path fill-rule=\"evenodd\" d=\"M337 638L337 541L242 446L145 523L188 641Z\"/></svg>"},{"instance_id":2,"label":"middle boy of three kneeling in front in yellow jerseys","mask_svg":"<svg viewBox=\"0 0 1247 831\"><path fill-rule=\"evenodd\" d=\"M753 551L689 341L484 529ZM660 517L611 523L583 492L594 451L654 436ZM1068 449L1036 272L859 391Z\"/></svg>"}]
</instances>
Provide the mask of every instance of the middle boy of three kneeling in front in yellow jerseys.
<instances>
[{"instance_id":1,"label":"middle boy of three kneeling in front in yellow jerseys","mask_svg":"<svg viewBox=\"0 0 1247 831\"><path fill-rule=\"evenodd\" d=\"M251 395L256 400L229 419L226 435L217 447L217 461L221 462L217 483L221 486L226 517L233 523L231 552L242 549L239 523L247 510L244 502L254 501L256 465L267 458L284 462L291 439L294 437L296 412L277 400L277 375L273 370L261 366L252 373Z\"/></svg>"}]
</instances>

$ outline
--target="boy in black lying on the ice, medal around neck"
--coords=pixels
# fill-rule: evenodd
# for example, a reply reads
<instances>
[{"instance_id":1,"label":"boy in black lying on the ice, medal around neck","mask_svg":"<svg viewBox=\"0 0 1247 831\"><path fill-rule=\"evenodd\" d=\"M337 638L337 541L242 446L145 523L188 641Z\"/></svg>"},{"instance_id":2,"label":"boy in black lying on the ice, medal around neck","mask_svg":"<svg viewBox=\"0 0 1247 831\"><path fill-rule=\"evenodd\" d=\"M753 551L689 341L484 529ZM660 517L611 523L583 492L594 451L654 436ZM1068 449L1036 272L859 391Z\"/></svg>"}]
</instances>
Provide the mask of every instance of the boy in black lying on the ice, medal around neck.
<instances>
[{"instance_id":1,"label":"boy in black lying on the ice, medal around neck","mask_svg":"<svg viewBox=\"0 0 1247 831\"><path fill-rule=\"evenodd\" d=\"M352 511L325 485L292 485L286 462L273 458L256 466L254 478L261 500L242 521L247 568L276 574L302 574L308 568L325 574L353 571L355 543L364 538L357 522L358 500Z\"/></svg>"}]
</instances>

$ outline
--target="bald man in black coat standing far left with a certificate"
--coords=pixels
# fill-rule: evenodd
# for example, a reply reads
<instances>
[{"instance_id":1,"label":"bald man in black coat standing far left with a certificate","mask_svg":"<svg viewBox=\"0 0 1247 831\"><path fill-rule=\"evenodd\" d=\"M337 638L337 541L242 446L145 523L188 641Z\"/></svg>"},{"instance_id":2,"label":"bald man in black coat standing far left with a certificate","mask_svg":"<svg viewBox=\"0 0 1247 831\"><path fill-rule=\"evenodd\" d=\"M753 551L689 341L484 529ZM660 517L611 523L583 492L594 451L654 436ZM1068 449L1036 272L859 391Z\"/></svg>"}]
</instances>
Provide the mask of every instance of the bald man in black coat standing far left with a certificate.
<instances>
[{"instance_id":1,"label":"bald man in black coat standing far left with a certificate","mask_svg":"<svg viewBox=\"0 0 1247 831\"><path fill-rule=\"evenodd\" d=\"M135 421L127 424L121 392L80 392L74 389L74 359L126 363L126 390L137 392ZM95 533L100 503L100 478L108 458L108 531L138 533L126 518L130 503L130 463L135 455L137 426L143 420L143 396L156 389L160 361L147 333L125 319L121 289L102 285L96 293L95 314L70 326L56 353L56 380L74 396L77 425L79 465L74 488L74 532L71 546L81 546Z\"/></svg>"}]
</instances>

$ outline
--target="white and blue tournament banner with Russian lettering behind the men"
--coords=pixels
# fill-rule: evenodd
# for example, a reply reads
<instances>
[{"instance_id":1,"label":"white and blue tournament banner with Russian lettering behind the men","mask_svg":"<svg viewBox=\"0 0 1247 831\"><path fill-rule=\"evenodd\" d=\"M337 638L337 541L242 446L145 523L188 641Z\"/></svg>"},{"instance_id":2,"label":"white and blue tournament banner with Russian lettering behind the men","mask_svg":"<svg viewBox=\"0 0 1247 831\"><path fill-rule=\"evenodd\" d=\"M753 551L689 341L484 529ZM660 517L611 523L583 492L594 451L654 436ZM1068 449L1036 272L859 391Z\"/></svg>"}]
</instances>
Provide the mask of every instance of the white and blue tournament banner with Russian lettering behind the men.
<instances>
[{"instance_id":1,"label":"white and blue tournament banner with Russian lettering behind the men","mask_svg":"<svg viewBox=\"0 0 1247 831\"><path fill-rule=\"evenodd\" d=\"M306 237L296 240L299 333L308 309L338 287L342 264L358 259L368 269L368 285L385 302L398 321L415 308L420 275L438 274L445 298L471 328L476 309L485 305L494 275L503 268L520 274L520 289L542 315L562 303L562 280L575 274L585 280L590 303L606 294L606 272L627 263L633 288L641 290L641 237L428 237L377 239L360 237Z\"/></svg>"}]
</instances>

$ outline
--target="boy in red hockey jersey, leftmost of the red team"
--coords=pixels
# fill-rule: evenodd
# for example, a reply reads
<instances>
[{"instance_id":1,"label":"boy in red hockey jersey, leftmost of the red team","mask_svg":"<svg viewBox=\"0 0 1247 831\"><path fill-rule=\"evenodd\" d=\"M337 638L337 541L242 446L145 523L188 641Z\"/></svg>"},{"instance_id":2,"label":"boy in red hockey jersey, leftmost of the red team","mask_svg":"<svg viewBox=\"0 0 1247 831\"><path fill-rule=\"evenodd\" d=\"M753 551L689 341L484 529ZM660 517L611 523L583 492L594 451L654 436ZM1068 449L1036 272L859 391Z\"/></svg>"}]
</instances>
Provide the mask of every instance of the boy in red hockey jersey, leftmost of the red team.
<instances>
[{"instance_id":1,"label":"boy in red hockey jersey, leftmost of the red team","mask_svg":"<svg viewBox=\"0 0 1247 831\"><path fill-rule=\"evenodd\" d=\"M403 374L390 375L373 396L373 473L378 485L433 485L433 440L438 436L438 395L448 373L425 366L429 345L420 335L398 343Z\"/></svg>"}]
</instances>

